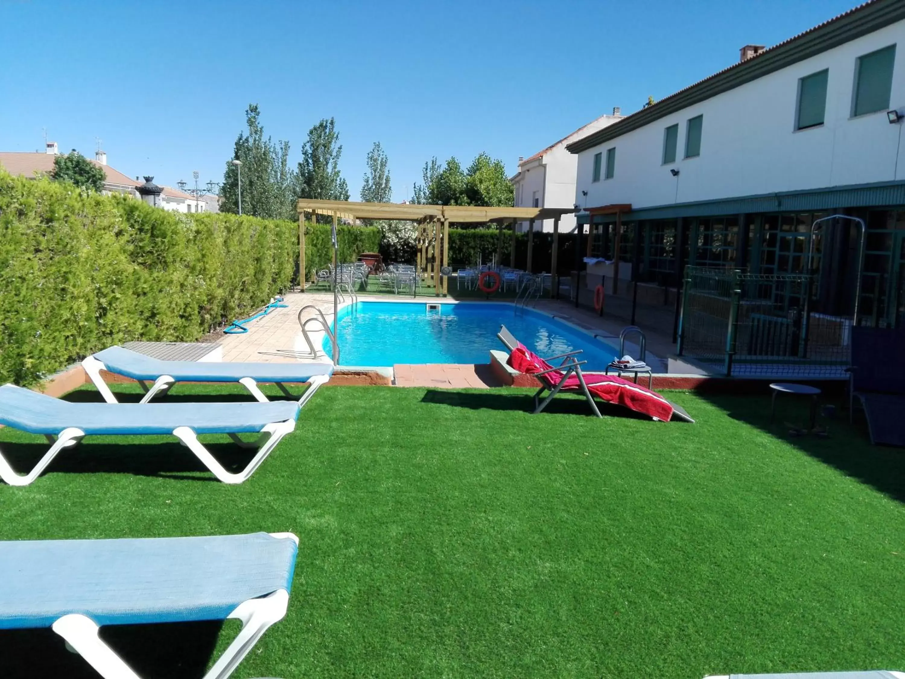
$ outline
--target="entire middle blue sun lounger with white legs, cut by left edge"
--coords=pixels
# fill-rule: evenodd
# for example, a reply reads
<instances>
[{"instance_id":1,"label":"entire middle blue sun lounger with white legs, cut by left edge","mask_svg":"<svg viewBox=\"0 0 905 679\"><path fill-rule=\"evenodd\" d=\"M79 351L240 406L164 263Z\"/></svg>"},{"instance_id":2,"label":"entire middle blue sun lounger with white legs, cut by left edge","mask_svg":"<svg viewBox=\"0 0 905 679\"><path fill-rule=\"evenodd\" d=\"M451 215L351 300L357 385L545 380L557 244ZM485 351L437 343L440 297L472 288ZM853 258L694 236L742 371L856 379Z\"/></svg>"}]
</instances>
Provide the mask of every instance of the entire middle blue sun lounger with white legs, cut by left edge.
<instances>
[{"instance_id":1,"label":"entire middle blue sun lounger with white legs, cut by left edge","mask_svg":"<svg viewBox=\"0 0 905 679\"><path fill-rule=\"evenodd\" d=\"M43 434L51 444L31 472L15 473L0 451L0 478L28 485L63 448L88 435L174 435L224 483L242 483L261 465L283 436L295 429L300 405L273 403L70 403L11 384L0 387L0 425ZM246 443L239 434L260 434ZM258 448L242 472L227 472L197 435L226 434L243 447Z\"/></svg>"}]
</instances>

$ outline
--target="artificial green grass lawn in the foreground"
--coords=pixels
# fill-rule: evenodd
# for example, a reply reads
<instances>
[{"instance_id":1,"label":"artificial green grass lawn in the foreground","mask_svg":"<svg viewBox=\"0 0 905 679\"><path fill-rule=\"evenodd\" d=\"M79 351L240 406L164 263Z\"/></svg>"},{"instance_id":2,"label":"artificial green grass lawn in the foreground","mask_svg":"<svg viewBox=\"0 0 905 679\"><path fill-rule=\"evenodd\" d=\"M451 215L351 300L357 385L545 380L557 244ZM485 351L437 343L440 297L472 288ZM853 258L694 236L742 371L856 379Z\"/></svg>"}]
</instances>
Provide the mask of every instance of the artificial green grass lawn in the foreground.
<instances>
[{"instance_id":1,"label":"artificial green grass lawn in the foreground","mask_svg":"<svg viewBox=\"0 0 905 679\"><path fill-rule=\"evenodd\" d=\"M169 398L224 393L241 390ZM237 677L905 668L901 451L843 423L789 441L767 397L670 397L697 424L597 420L572 397L531 416L514 389L325 387L242 485L164 438L89 438L0 488L0 538L295 532L289 613ZM24 441L0 430L36 454Z\"/></svg>"}]
</instances>

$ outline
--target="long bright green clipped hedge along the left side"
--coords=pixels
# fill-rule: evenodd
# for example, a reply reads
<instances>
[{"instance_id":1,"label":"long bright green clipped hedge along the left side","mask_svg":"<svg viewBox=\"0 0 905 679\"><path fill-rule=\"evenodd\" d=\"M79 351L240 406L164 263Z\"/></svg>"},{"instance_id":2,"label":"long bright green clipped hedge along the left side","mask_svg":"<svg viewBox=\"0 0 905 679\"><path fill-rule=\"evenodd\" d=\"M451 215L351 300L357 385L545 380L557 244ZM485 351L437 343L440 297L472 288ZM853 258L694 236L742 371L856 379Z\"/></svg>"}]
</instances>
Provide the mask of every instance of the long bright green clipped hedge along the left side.
<instances>
[{"instance_id":1,"label":"long bright green clipped hedge along the left side","mask_svg":"<svg viewBox=\"0 0 905 679\"><path fill-rule=\"evenodd\" d=\"M130 339L198 339L289 287L298 226L177 215L0 171L0 383Z\"/></svg>"}]
</instances>

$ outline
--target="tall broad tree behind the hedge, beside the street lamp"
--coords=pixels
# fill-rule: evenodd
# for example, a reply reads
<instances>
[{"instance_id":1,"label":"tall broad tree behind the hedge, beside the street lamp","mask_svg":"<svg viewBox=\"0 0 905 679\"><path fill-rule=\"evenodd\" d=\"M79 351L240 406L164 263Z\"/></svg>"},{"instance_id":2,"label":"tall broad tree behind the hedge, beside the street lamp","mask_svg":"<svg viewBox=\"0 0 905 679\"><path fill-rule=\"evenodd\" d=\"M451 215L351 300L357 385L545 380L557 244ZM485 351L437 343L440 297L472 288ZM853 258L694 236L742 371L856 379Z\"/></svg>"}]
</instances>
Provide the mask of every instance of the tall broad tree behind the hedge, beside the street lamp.
<instances>
[{"instance_id":1,"label":"tall broad tree behind the hedge, beside the street lamp","mask_svg":"<svg viewBox=\"0 0 905 679\"><path fill-rule=\"evenodd\" d=\"M221 186L220 209L239 211L239 177L242 177L242 213L258 217L289 218L295 215L292 206L294 173L289 166L289 142L274 143L264 139L261 109L250 104L245 110L248 132L239 133L233 146L233 158L226 162ZM242 163L241 169L233 160Z\"/></svg>"}]
</instances>

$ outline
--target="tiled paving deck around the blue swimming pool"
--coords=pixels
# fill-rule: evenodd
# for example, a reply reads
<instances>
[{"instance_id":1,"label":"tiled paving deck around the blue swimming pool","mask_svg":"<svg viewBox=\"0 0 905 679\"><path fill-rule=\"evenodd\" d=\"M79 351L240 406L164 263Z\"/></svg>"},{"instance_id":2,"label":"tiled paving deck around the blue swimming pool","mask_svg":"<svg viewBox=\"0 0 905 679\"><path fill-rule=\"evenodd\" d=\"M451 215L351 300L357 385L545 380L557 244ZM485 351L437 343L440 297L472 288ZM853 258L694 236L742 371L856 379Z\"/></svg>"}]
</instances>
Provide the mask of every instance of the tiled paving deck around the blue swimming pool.
<instances>
[{"instance_id":1,"label":"tiled paving deck around the blue swimming pool","mask_svg":"<svg viewBox=\"0 0 905 679\"><path fill-rule=\"evenodd\" d=\"M386 301L386 296L359 296L360 301ZM432 301L424 298L419 301ZM323 311L327 320L332 320L333 295L331 293L290 292L285 295L285 309L271 311L267 316L252 320L248 324L248 332L235 335L222 335L218 339L223 349L225 361L265 361L271 363L294 362L296 359L287 351L298 350L300 330L298 314L302 307L313 304ZM467 302L465 302L467 303ZM618 336L624 322L600 318L594 313L576 309L565 301L540 301L538 311L555 314L591 333L606 336ZM315 315L312 310L306 311L303 318ZM617 341L611 339L610 341ZM636 347L629 345L626 350L632 353ZM660 365L652 363L655 372L703 375L704 372L680 359L668 358L673 352L670 338L657 334L647 335L647 350L660 357ZM488 357L489 359L489 357ZM490 370L471 365L398 365L395 366L395 384L399 387L496 387L500 382L493 377Z\"/></svg>"}]
</instances>

